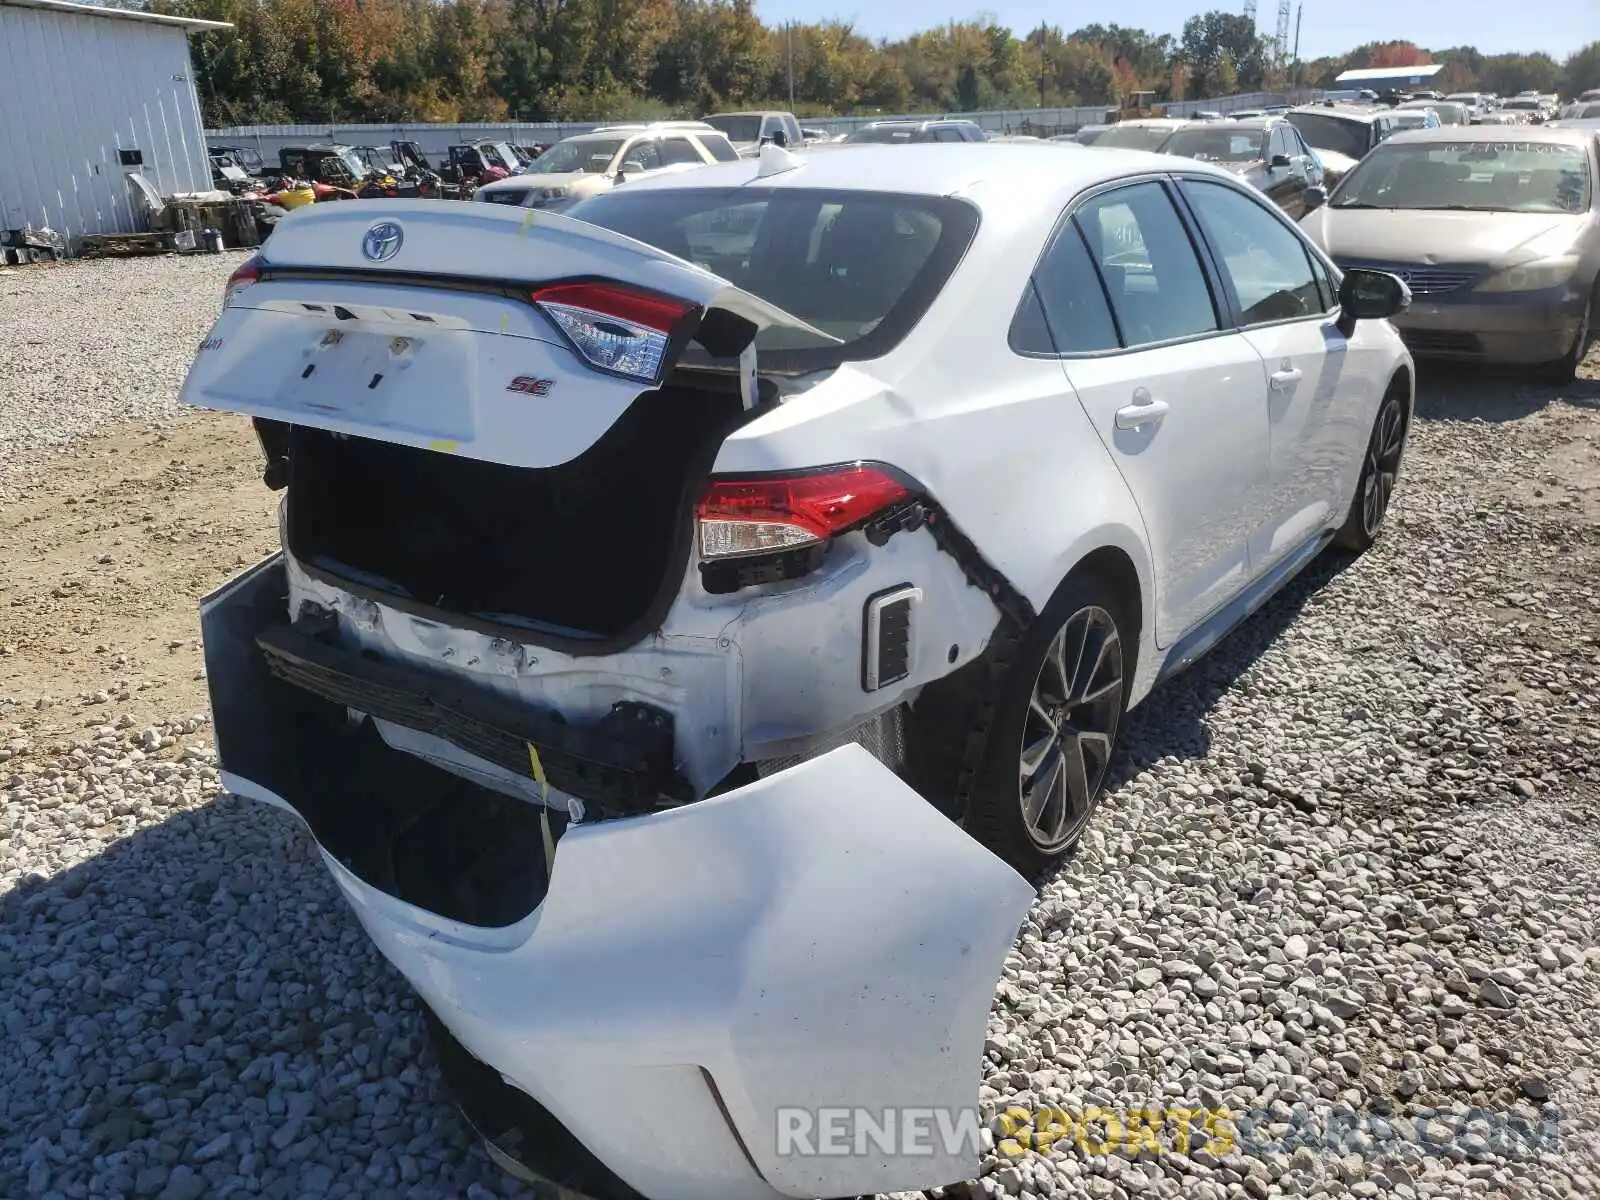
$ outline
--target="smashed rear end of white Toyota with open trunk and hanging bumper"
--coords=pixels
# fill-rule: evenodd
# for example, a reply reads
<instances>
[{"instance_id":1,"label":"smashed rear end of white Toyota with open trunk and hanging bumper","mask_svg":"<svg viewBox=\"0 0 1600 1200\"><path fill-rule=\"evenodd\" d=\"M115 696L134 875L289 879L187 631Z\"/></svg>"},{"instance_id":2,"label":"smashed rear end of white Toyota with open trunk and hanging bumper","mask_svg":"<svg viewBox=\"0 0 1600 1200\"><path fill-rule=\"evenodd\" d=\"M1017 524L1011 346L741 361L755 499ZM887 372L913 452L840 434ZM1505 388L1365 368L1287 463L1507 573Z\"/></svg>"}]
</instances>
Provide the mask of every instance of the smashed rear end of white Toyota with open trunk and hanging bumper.
<instances>
[{"instance_id":1,"label":"smashed rear end of white Toyota with open trunk and hanging bumper","mask_svg":"<svg viewBox=\"0 0 1600 1200\"><path fill-rule=\"evenodd\" d=\"M794 387L758 339L837 336L562 216L349 208L235 272L184 389L285 491L202 605L224 784L307 826L502 1162L651 1200L970 1176L976 1142L784 1138L974 1112L1032 898L861 744L954 662L920 602L994 619L894 536L931 501L715 470Z\"/></svg>"}]
</instances>

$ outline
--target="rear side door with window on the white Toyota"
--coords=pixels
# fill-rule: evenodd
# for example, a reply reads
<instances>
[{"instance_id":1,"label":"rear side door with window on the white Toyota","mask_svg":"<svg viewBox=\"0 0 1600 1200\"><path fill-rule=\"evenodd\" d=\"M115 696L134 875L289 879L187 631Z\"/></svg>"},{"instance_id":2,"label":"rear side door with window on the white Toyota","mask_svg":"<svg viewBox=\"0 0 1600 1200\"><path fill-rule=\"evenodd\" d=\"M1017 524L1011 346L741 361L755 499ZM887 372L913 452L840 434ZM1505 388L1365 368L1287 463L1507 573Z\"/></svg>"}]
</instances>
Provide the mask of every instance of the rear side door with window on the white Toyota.
<instances>
[{"instance_id":1,"label":"rear side door with window on the white Toyota","mask_svg":"<svg viewBox=\"0 0 1600 1200\"><path fill-rule=\"evenodd\" d=\"M1269 454L1261 355L1227 328L1166 182L1093 195L1061 237L1082 238L1090 261L1072 286L1110 304L1117 349L1062 366L1144 517L1166 646L1250 574Z\"/></svg>"}]
</instances>

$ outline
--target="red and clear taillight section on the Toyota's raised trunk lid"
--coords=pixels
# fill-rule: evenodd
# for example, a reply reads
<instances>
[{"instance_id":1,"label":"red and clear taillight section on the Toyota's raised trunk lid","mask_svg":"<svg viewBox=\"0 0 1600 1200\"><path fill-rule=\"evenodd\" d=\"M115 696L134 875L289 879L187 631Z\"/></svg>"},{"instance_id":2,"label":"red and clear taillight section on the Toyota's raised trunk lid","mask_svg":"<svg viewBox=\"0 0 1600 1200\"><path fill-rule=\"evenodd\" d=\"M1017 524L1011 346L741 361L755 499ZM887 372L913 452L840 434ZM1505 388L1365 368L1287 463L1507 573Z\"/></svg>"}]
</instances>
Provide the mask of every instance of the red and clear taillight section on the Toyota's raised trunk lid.
<instances>
[{"instance_id":1,"label":"red and clear taillight section on the Toyota's raised trunk lid","mask_svg":"<svg viewBox=\"0 0 1600 1200\"><path fill-rule=\"evenodd\" d=\"M661 382L667 346L694 312L688 301L616 283L557 283L533 293L590 366L640 382Z\"/></svg>"}]
</instances>

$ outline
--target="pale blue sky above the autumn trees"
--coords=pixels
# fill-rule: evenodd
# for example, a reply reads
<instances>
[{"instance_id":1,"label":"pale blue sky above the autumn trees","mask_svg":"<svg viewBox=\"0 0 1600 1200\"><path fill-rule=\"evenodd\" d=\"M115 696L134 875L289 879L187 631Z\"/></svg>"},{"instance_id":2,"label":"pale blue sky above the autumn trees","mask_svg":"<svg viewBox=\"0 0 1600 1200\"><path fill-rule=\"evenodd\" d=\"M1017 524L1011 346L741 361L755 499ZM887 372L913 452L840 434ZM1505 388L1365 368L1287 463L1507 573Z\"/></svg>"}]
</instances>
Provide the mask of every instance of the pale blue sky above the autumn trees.
<instances>
[{"instance_id":1,"label":"pale blue sky above the autumn trees","mask_svg":"<svg viewBox=\"0 0 1600 1200\"><path fill-rule=\"evenodd\" d=\"M1296 0L1299 3L1299 0ZM1205 0L1122 0L1099 5L1053 5L1046 0L757 0L757 13L773 26L784 21L854 21L869 37L904 37L918 29L966 21L982 13L1022 32L1040 21L1077 29L1091 22L1122 24L1176 35ZM1218 8L1243 10L1242 0ZM1270 37L1277 0L1258 0L1261 32ZM1301 58L1338 54L1363 42L1416 42L1421 46L1475 45L1488 54L1544 50L1557 59L1600 37L1600 0L1306 0ZM1291 18L1293 21L1293 18ZM1293 26L1291 26L1293 37Z\"/></svg>"}]
</instances>

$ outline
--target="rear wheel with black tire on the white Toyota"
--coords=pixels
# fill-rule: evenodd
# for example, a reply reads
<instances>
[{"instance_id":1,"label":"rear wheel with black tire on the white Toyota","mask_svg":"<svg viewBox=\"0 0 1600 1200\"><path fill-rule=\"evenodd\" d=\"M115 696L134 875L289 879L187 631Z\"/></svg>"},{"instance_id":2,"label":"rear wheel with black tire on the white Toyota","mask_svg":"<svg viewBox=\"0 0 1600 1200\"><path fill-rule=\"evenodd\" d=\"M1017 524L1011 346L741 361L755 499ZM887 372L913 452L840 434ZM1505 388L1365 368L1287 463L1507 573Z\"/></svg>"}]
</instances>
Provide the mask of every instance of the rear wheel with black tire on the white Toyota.
<instances>
[{"instance_id":1,"label":"rear wheel with black tire on the white Toyota","mask_svg":"<svg viewBox=\"0 0 1600 1200\"><path fill-rule=\"evenodd\" d=\"M1138 661L1138 621L1128 610L1128 598L1101 576L1069 576L998 683L965 824L1029 878L1072 853L1099 806ZM1064 654L1054 653L1058 646ZM1050 731L1056 741L1038 750Z\"/></svg>"}]
</instances>

